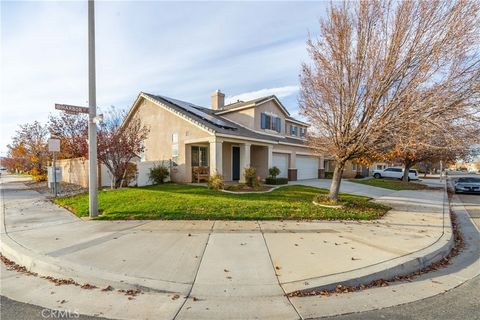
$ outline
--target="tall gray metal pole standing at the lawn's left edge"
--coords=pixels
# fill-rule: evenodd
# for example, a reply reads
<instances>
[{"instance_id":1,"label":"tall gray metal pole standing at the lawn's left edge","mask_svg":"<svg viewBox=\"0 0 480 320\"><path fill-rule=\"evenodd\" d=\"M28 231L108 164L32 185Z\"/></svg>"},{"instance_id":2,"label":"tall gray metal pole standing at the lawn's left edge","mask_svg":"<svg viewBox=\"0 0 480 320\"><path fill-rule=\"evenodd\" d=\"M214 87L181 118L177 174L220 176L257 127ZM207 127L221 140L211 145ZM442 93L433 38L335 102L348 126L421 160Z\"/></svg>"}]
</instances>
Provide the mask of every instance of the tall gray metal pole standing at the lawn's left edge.
<instances>
[{"instance_id":1,"label":"tall gray metal pole standing at the lawn's left edge","mask_svg":"<svg viewBox=\"0 0 480 320\"><path fill-rule=\"evenodd\" d=\"M90 217L98 215L97 197L97 98L95 84L95 8L88 0L88 195Z\"/></svg>"}]
</instances>

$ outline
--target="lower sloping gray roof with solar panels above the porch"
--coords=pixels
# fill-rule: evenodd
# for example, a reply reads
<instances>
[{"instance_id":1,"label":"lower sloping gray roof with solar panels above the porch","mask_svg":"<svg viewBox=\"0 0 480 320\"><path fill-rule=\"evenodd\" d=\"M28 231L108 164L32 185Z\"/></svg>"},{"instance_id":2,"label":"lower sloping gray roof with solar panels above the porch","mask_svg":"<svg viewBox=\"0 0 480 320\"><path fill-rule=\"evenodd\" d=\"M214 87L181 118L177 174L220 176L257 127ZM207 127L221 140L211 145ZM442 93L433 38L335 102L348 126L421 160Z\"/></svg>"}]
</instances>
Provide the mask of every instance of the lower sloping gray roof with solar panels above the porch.
<instances>
[{"instance_id":1,"label":"lower sloping gray roof with solar panels above the porch","mask_svg":"<svg viewBox=\"0 0 480 320\"><path fill-rule=\"evenodd\" d=\"M304 145L304 141L300 139L282 137L282 136L272 136L267 134L261 134L255 132L246 127L240 126L232 121L229 121L227 118L224 118L220 115L215 114L215 110L210 108L204 108L198 105L195 105L190 102L169 98L166 96L154 95L150 93L143 92L146 96L151 99L165 104L175 111L182 113L184 116L189 117L192 120L202 124L203 126L215 131L215 133L229 134L239 136L241 138L251 138L251 139L260 139L267 140L272 142L284 142L297 144L299 146Z\"/></svg>"}]
</instances>

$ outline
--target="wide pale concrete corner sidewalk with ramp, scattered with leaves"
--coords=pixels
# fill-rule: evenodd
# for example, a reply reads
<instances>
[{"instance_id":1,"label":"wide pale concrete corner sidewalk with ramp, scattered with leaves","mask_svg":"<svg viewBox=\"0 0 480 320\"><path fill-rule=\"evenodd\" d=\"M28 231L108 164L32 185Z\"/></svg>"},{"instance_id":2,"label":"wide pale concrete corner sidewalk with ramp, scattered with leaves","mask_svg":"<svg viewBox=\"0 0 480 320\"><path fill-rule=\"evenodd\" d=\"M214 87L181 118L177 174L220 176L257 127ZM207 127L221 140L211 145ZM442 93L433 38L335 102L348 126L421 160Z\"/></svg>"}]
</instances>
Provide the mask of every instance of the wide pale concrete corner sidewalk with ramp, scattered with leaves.
<instances>
[{"instance_id":1,"label":"wide pale concrete corner sidewalk with ramp, scattered with leaves","mask_svg":"<svg viewBox=\"0 0 480 320\"><path fill-rule=\"evenodd\" d=\"M19 183L1 187L2 253L40 274L145 292L121 309L84 301L82 313L113 318L133 312L119 312L124 304L153 317L145 304L155 301L155 319L296 319L284 292L408 272L452 244L440 191L375 190L393 210L371 222L112 222L78 219Z\"/></svg>"}]
</instances>

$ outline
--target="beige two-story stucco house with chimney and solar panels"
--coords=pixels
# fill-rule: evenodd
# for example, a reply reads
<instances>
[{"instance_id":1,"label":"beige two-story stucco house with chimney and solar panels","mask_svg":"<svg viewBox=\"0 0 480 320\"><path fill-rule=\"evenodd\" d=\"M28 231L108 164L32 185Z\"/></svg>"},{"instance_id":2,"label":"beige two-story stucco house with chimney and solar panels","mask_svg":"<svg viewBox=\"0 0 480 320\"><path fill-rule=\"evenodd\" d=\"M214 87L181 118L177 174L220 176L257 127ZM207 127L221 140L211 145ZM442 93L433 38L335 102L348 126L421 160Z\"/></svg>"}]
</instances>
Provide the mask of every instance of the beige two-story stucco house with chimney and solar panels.
<instances>
[{"instance_id":1,"label":"beige two-story stucco house with chimney and solar panels","mask_svg":"<svg viewBox=\"0 0 480 320\"><path fill-rule=\"evenodd\" d=\"M305 145L308 124L294 119L276 96L225 105L213 93L211 108L140 93L127 116L150 129L143 161L172 160L172 181L193 182L201 168L225 181L244 181L255 167L264 179L276 166L289 180L323 177L324 158Z\"/></svg>"}]
</instances>

